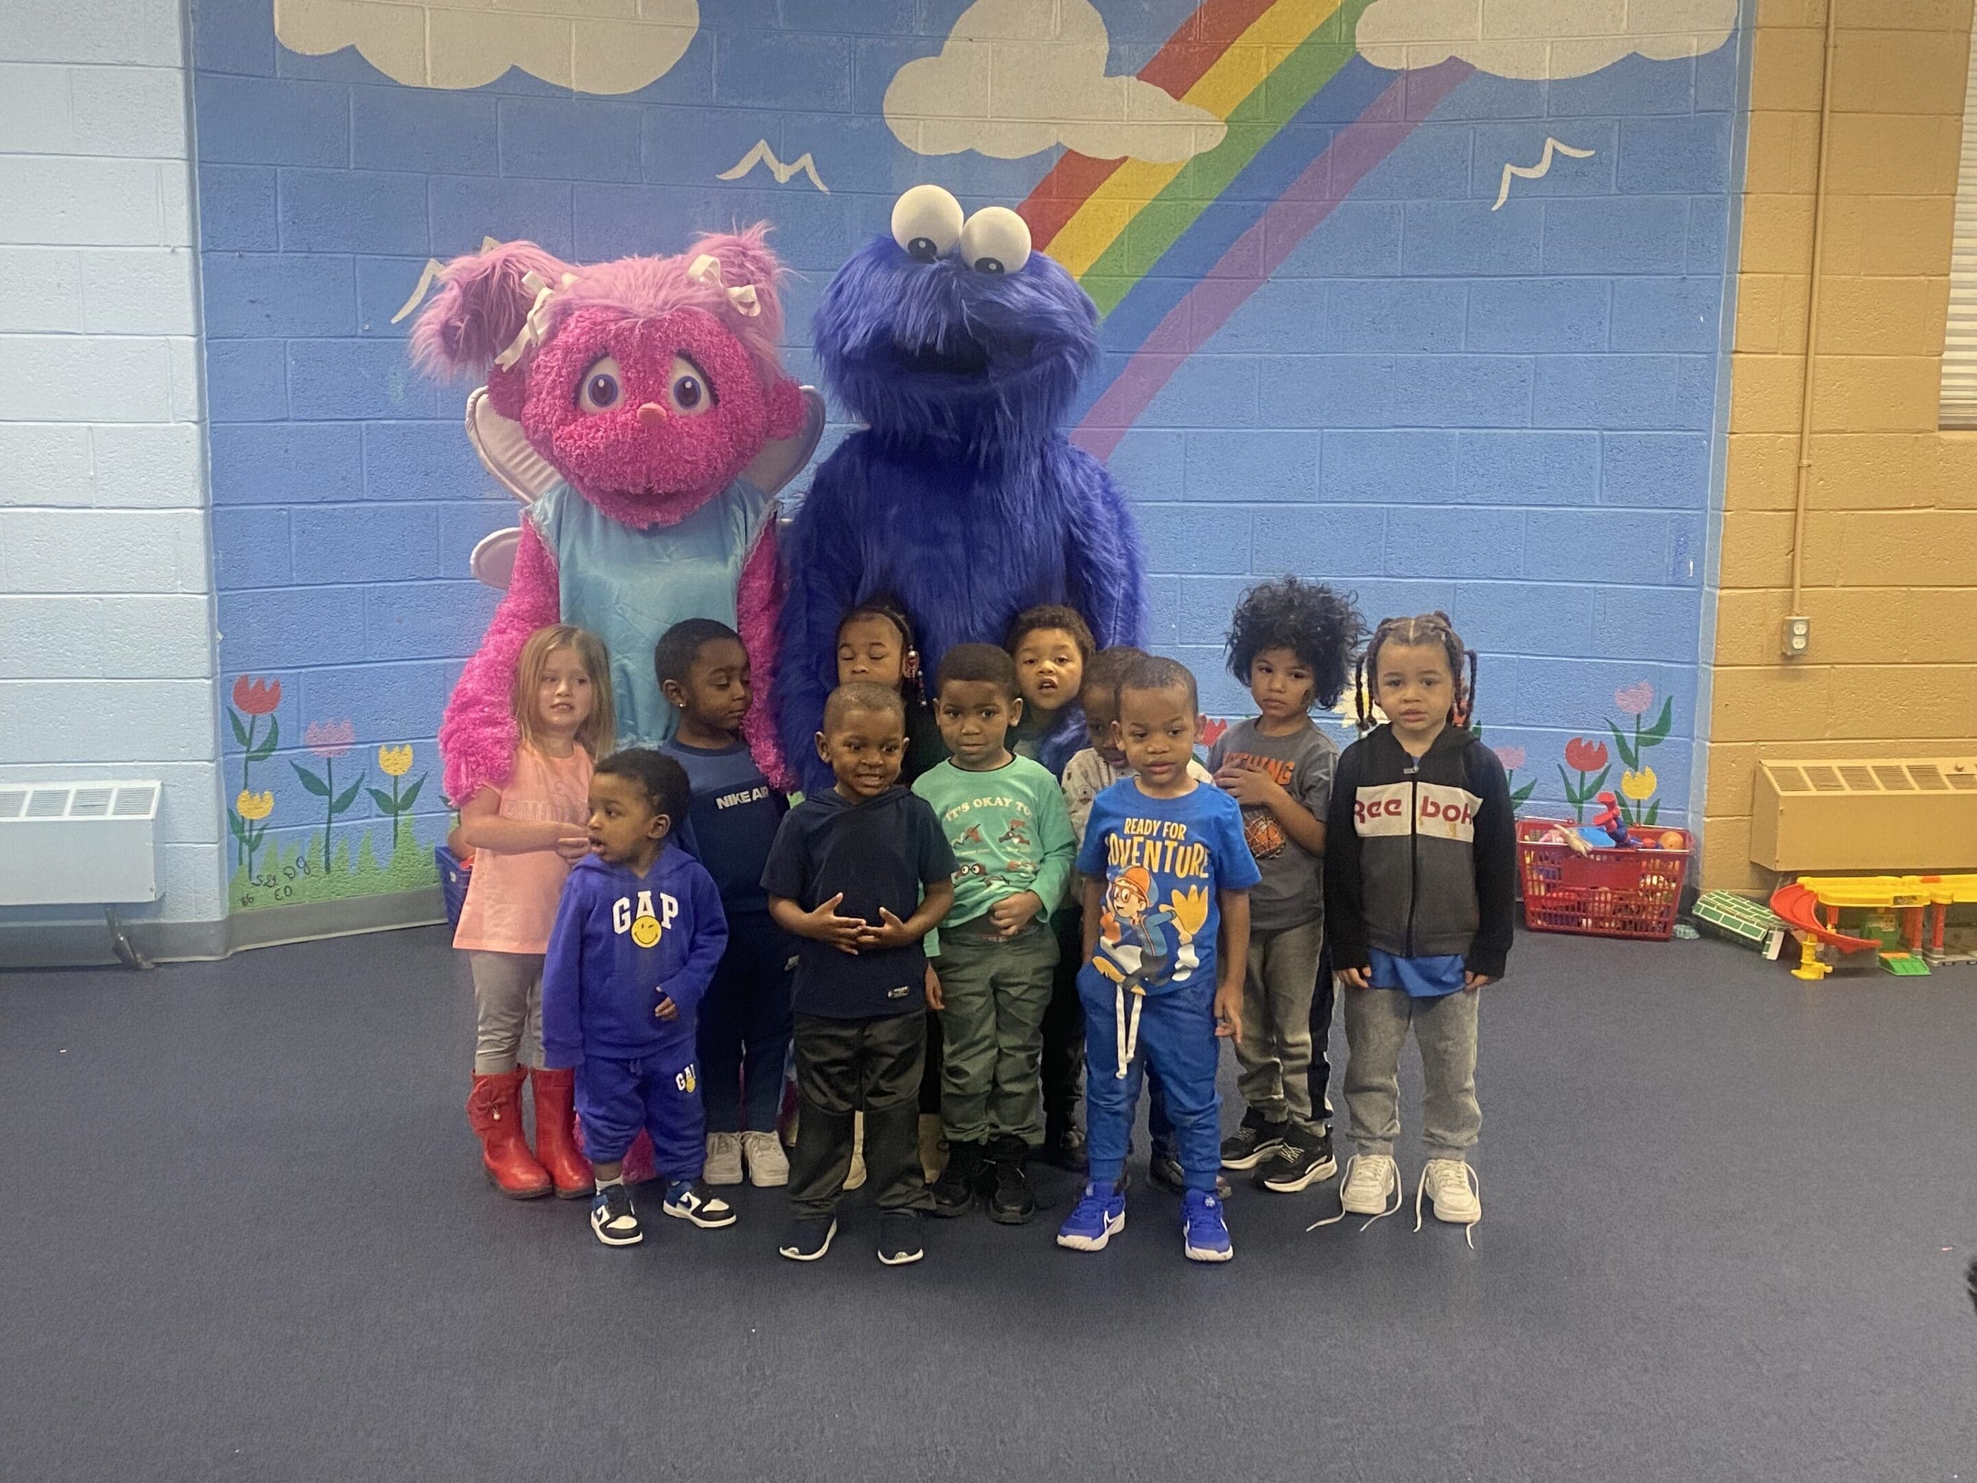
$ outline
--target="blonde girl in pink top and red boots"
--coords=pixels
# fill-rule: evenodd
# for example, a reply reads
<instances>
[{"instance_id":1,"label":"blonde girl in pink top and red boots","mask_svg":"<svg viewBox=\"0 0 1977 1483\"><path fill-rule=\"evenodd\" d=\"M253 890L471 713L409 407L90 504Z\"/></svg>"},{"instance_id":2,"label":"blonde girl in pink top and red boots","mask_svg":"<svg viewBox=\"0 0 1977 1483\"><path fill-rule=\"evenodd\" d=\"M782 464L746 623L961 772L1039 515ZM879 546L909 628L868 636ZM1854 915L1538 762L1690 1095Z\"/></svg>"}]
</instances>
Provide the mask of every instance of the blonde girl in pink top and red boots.
<instances>
[{"instance_id":1,"label":"blonde girl in pink top and red boots","mask_svg":"<svg viewBox=\"0 0 1977 1483\"><path fill-rule=\"evenodd\" d=\"M480 1137L488 1182L514 1200L552 1188L591 1192L591 1167L571 1137L573 1080L542 1064L542 955L569 866L589 854L591 761L613 738L611 660L595 635L536 629L514 682L520 743L500 787L461 809L474 870L453 945L474 975L474 1090L467 1121ZM536 1149L522 1135L522 1082L536 1084Z\"/></svg>"}]
</instances>

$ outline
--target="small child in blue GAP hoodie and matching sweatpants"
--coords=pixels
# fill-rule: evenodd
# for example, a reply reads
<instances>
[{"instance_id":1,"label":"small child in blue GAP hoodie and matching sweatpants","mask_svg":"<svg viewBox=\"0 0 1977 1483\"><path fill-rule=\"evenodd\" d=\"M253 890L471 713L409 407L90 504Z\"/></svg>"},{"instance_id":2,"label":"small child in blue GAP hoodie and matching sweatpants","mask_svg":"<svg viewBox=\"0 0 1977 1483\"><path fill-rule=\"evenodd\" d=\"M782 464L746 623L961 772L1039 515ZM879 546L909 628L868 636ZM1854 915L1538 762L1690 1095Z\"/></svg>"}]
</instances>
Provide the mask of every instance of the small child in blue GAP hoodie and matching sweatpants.
<instances>
[{"instance_id":1,"label":"small child in blue GAP hoodie and matching sweatpants","mask_svg":"<svg viewBox=\"0 0 1977 1483\"><path fill-rule=\"evenodd\" d=\"M712 876L668 834L686 817L680 763L615 751L591 775L591 854L569 872L542 965L542 1060L575 1068L583 1147L597 1169L591 1230L605 1246L645 1240L625 1151L643 1127L666 1180L664 1210L731 1226L700 1180L706 1117L694 1018L728 945Z\"/></svg>"}]
</instances>

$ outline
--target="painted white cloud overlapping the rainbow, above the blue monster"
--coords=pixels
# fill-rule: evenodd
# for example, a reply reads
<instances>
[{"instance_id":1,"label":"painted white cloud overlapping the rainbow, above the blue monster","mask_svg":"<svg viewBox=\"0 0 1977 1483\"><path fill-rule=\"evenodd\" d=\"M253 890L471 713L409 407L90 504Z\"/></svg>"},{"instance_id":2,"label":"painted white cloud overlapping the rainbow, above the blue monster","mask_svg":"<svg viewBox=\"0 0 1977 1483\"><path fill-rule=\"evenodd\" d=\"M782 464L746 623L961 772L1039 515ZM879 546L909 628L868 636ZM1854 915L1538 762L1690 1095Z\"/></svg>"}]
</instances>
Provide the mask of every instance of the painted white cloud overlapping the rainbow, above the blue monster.
<instances>
[{"instance_id":1,"label":"painted white cloud overlapping the rainbow, above the blue monster","mask_svg":"<svg viewBox=\"0 0 1977 1483\"><path fill-rule=\"evenodd\" d=\"M1099 160L1186 160L1228 127L1139 77L1105 75L1105 20L1091 0L975 0L937 57L886 87L886 123L919 154L998 160L1052 144Z\"/></svg>"}]
</instances>

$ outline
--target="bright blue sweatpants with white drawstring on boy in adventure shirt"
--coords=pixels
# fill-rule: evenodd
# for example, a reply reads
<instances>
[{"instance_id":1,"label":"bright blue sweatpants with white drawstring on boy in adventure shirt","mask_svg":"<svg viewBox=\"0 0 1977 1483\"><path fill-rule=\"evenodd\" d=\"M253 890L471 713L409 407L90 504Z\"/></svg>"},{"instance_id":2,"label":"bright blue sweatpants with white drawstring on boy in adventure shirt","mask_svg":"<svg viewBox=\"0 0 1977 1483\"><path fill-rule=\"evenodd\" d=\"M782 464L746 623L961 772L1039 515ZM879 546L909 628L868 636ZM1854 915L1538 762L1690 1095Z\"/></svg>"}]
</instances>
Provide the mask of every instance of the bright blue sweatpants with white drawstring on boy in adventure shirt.
<instances>
[{"instance_id":1,"label":"bright blue sweatpants with white drawstring on boy in adventure shirt","mask_svg":"<svg viewBox=\"0 0 1977 1483\"><path fill-rule=\"evenodd\" d=\"M1091 1182L1117 1182L1133 1139L1139 1084L1147 1068L1166 1090L1174 1155L1190 1190L1214 1192L1222 1169L1222 1093L1216 1091L1214 963L1204 963L1178 989L1147 995L1139 1010L1139 1044L1119 1076L1119 1008L1111 979L1093 967L1077 975L1085 1006L1085 1157ZM1133 995L1127 995L1127 1016Z\"/></svg>"}]
</instances>

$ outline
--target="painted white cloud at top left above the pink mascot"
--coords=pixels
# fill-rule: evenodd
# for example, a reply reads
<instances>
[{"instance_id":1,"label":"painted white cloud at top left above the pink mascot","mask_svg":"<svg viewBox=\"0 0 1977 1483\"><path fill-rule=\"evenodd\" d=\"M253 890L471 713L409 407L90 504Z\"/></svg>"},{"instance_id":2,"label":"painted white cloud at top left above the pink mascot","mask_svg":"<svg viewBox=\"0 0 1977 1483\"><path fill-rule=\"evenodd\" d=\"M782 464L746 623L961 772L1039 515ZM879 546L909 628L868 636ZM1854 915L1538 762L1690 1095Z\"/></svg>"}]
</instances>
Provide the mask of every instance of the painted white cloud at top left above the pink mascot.
<instances>
[{"instance_id":1,"label":"painted white cloud at top left above the pink mascot","mask_svg":"<svg viewBox=\"0 0 1977 1483\"><path fill-rule=\"evenodd\" d=\"M480 87L510 67L577 93L633 93L664 77L698 0L275 0L275 36L322 55L354 45L413 87Z\"/></svg>"}]
</instances>

